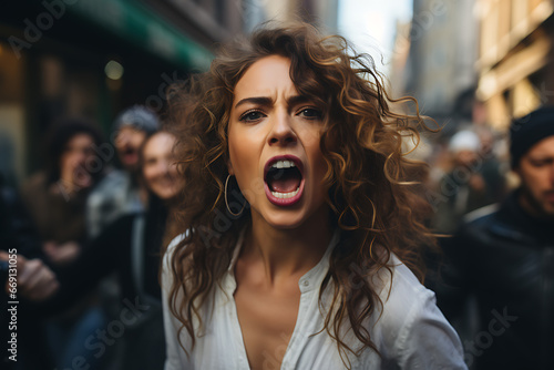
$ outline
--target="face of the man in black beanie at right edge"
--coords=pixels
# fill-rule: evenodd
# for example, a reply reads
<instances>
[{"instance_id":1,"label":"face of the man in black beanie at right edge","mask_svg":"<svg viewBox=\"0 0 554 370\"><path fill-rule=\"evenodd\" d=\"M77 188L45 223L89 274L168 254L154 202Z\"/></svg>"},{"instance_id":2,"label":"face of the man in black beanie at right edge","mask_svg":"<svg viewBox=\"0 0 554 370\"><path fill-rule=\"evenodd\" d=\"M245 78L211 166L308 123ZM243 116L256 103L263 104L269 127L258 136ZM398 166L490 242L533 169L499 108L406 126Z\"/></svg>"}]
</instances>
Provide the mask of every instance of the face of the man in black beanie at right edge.
<instances>
[{"instance_id":1,"label":"face of the man in black beanie at right edge","mask_svg":"<svg viewBox=\"0 0 554 370\"><path fill-rule=\"evenodd\" d=\"M554 218L554 136L543 138L515 168L522 181L521 202L540 218Z\"/></svg>"}]
</instances>

